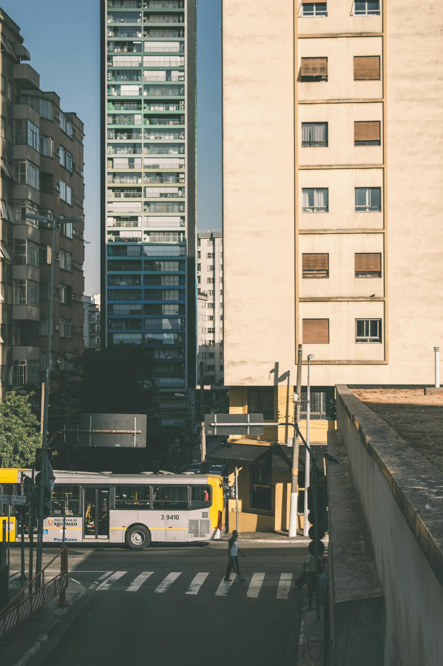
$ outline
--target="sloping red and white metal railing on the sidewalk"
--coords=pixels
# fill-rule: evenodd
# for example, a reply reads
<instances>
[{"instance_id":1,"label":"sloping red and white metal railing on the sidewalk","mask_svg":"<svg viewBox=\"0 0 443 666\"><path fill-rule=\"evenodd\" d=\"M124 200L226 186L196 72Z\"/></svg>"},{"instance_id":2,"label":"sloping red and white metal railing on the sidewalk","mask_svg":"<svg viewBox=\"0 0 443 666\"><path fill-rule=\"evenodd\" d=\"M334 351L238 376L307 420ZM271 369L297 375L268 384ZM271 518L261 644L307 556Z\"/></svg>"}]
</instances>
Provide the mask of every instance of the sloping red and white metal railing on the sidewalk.
<instances>
[{"instance_id":1,"label":"sloping red and white metal railing on the sidewalk","mask_svg":"<svg viewBox=\"0 0 443 666\"><path fill-rule=\"evenodd\" d=\"M60 557L60 573L53 576L49 581L45 582L45 569L53 563L57 557ZM33 589L33 584L41 585L29 594ZM37 581L37 582L36 582ZM0 638L5 635L14 627L17 627L29 615L38 611L39 608L45 605L59 595L59 605L66 605L66 589L68 587L68 549L67 546L63 547L50 562L25 587L21 590L9 603L3 608L0 615ZM28 591L28 594L26 592Z\"/></svg>"}]
</instances>

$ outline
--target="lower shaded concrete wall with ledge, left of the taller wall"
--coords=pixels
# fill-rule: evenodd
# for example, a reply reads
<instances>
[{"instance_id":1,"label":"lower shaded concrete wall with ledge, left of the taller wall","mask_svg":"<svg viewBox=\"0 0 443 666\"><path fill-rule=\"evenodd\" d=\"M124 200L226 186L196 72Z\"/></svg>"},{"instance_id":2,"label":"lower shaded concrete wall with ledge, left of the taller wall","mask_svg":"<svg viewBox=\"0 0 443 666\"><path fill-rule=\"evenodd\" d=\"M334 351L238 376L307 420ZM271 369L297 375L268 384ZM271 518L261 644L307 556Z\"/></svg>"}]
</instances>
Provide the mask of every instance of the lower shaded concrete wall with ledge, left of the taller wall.
<instances>
[{"instance_id":1,"label":"lower shaded concrete wall with ledge, left of the taller wall","mask_svg":"<svg viewBox=\"0 0 443 666\"><path fill-rule=\"evenodd\" d=\"M384 598L368 545L364 521L340 432L328 433L328 571L334 663L383 663Z\"/></svg>"}]
</instances>

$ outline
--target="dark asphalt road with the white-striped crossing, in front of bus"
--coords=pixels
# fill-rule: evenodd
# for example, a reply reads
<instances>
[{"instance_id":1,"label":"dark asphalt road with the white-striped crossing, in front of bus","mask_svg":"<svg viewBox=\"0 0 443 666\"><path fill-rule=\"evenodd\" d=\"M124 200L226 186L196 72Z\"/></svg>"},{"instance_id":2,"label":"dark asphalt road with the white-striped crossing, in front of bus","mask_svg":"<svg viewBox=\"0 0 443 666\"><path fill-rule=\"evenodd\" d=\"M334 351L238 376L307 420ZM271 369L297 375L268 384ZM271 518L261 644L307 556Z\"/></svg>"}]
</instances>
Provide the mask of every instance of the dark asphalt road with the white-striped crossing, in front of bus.
<instances>
[{"instance_id":1,"label":"dark asphalt road with the white-striped crossing, in front of bus","mask_svg":"<svg viewBox=\"0 0 443 666\"><path fill-rule=\"evenodd\" d=\"M225 585L226 546L69 549L70 589L87 594L32 666L293 665L306 546L240 542L247 582Z\"/></svg>"}]
</instances>

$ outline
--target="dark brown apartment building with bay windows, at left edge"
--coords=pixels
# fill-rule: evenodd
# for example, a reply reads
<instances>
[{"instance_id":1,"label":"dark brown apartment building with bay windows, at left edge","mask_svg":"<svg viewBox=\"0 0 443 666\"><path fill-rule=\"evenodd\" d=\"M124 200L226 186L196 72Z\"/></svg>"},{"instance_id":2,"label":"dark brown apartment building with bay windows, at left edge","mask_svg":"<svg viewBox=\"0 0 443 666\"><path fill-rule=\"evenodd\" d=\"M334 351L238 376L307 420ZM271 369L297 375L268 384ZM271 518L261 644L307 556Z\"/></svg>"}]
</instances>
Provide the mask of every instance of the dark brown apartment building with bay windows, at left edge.
<instances>
[{"instance_id":1,"label":"dark brown apartment building with bay windows, at left edge","mask_svg":"<svg viewBox=\"0 0 443 666\"><path fill-rule=\"evenodd\" d=\"M52 232L27 218L83 216L83 123L41 91L19 27L0 10L0 397L45 369ZM83 351L83 222L57 228L52 366Z\"/></svg>"}]
</instances>

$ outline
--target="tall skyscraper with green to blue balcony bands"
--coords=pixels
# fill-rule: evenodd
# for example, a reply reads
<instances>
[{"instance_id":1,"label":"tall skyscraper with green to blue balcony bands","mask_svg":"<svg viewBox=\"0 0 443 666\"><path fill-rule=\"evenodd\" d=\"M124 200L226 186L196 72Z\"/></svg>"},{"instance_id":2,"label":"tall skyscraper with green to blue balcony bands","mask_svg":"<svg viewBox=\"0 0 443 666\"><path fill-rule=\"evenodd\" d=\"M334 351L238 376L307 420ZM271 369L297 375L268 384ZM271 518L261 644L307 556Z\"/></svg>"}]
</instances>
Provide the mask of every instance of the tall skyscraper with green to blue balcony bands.
<instances>
[{"instance_id":1,"label":"tall skyscraper with green to blue balcony bands","mask_svg":"<svg viewBox=\"0 0 443 666\"><path fill-rule=\"evenodd\" d=\"M102 344L152 348L165 393L196 379L195 5L102 5Z\"/></svg>"}]
</instances>

